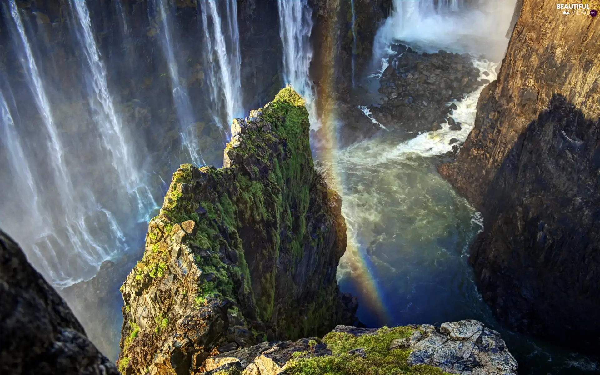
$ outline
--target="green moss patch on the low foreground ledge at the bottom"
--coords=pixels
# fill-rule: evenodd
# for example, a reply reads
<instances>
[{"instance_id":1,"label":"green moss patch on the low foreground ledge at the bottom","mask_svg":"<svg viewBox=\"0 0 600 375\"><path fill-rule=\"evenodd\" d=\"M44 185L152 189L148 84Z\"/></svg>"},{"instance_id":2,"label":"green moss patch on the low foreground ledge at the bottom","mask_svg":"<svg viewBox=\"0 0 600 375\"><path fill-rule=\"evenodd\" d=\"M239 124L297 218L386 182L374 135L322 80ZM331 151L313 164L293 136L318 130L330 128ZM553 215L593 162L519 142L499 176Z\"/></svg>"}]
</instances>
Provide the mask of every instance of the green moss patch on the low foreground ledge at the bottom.
<instances>
[{"instance_id":1,"label":"green moss patch on the low foreground ledge at the bottom","mask_svg":"<svg viewBox=\"0 0 600 375\"><path fill-rule=\"evenodd\" d=\"M396 338L409 337L413 329L383 327L377 335L354 335L330 332L323 338L323 343L331 349L333 355L311 357L311 353L296 355L288 362L286 372L290 375L442 375L442 370L432 366L420 365L409 367L406 360L410 350L389 350L389 345ZM311 347L313 344L309 343ZM364 349L366 358L350 355L353 349ZM309 358L298 358L308 356Z\"/></svg>"}]
</instances>

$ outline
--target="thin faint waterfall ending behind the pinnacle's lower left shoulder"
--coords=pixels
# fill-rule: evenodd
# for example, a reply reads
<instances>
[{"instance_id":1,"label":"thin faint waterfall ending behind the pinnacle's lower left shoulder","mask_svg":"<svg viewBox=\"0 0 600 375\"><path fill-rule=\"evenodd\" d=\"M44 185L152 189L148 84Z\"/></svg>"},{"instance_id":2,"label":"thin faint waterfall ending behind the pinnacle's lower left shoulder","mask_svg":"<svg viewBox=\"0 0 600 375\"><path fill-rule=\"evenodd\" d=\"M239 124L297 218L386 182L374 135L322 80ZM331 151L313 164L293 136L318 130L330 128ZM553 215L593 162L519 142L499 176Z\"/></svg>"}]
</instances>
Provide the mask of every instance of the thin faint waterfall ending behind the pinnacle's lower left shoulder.
<instances>
[{"instance_id":1,"label":"thin faint waterfall ending behind the pinnacle's lower left shoulder","mask_svg":"<svg viewBox=\"0 0 600 375\"><path fill-rule=\"evenodd\" d=\"M181 136L181 143L190 153L193 164L196 166L203 166L206 163L202 157L202 151L200 150L200 144L198 143L196 119L191 106L190 96L188 95L185 83L182 82L181 77L179 77L179 68L177 61L175 60L175 52L173 52L169 17L164 8L163 0L156 1L158 11L160 12L160 19L163 23L161 44L167 59L167 64L169 64L169 77L171 79L173 102L175 103L179 127L181 128L181 132L179 133Z\"/></svg>"}]
</instances>

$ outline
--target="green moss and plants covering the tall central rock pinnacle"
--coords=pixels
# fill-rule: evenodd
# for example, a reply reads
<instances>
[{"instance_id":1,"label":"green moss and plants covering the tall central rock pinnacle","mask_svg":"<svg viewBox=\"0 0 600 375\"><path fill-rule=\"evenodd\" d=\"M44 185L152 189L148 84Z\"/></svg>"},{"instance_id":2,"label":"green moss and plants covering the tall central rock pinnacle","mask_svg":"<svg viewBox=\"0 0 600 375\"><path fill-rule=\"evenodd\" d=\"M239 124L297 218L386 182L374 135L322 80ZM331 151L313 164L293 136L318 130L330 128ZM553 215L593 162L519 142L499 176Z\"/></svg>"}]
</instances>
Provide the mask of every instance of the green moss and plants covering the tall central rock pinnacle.
<instances>
[{"instance_id":1,"label":"green moss and plants covering the tall central rock pinnacle","mask_svg":"<svg viewBox=\"0 0 600 375\"><path fill-rule=\"evenodd\" d=\"M276 280L281 287L289 287L293 292L296 286L290 275L305 249L308 246L323 248L323 229L320 226L308 228L307 220L314 216L311 206L326 205L323 200L327 194L321 185L315 184L317 175L310 151L310 125L304 100L291 88L284 88L261 112L261 121L268 124L263 126L271 127L271 131L260 126L248 127L243 142L235 147L228 143L230 167L196 169L191 164L183 164L173 173L160 214L151 221L145 254L134 272L135 279L142 285L164 277L167 265L172 262L169 242L176 234L172 233L173 227L193 220L197 232L194 236L185 235L182 244L187 248L181 251L191 251L202 274L200 280L210 281L200 281L197 290L195 286L187 290L188 284L183 283L178 288L179 293L190 292L188 298L198 308L212 298L230 298L240 304L239 311L244 313L238 311L238 314L242 319L248 309L256 308L259 319L268 322L274 310ZM240 160L243 163L239 163ZM241 233L244 233L243 244ZM286 262L292 269L286 275L277 275L277 264L282 256L291 259ZM258 283L251 280L247 259L253 262L253 276L259 278ZM252 285L256 284L260 287L254 296ZM314 289L320 290L319 287ZM240 291L248 298L238 298ZM314 332L331 315L332 304L336 302L335 290L326 288L319 293L314 303L302 310L302 315L310 318L302 322L294 315L300 314L295 310L296 302L286 302L290 316L284 316L282 321L290 337ZM169 301L175 301L173 296ZM170 305L170 302L165 303ZM170 306L165 305L163 313L169 314L169 309ZM169 320L162 314L155 320L155 334L164 332ZM123 353L133 338L127 338Z\"/></svg>"}]
</instances>

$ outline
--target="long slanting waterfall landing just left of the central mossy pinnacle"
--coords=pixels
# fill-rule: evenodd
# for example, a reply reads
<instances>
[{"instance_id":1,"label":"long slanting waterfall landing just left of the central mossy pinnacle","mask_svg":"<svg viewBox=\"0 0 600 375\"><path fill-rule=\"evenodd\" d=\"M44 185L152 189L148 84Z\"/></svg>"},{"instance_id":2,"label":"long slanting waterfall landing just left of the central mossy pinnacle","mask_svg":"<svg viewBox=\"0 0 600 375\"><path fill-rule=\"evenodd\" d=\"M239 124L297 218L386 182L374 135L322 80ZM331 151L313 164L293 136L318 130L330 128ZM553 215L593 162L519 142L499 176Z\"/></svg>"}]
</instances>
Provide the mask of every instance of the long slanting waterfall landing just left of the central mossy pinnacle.
<instances>
[{"instance_id":1,"label":"long slanting waterfall landing just left of the central mossy pinnacle","mask_svg":"<svg viewBox=\"0 0 600 375\"><path fill-rule=\"evenodd\" d=\"M91 76L90 86L93 94L90 95L90 106L94 109L95 122L100 130L103 145L110 151L111 163L119 175L119 181L125 185L125 189L137 201L139 220L148 221L149 212L158 208L158 206L154 202L148 187L142 183L133 160L129 146L130 142L125 136L121 118L116 113L115 104L106 80L106 68L104 62L100 59L100 52L98 52L92 34L88 5L85 0L73 0L71 4L74 9L74 18L80 26L78 28L79 40L83 46L83 52L91 72L91 74L86 75ZM94 100L94 97L96 100Z\"/></svg>"}]
</instances>

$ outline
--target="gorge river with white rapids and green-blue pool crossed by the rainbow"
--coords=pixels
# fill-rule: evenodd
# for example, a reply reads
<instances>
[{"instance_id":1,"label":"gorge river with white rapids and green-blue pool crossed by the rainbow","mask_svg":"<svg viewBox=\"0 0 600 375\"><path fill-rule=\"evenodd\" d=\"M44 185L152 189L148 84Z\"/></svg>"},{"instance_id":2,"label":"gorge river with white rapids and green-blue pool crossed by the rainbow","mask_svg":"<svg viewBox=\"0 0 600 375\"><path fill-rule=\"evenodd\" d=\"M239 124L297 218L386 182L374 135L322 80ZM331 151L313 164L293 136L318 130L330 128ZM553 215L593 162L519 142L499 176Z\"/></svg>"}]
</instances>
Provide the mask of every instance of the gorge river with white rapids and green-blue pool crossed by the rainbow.
<instances>
[{"instance_id":1,"label":"gorge river with white rapids and green-blue pool crossed by the rainbow","mask_svg":"<svg viewBox=\"0 0 600 375\"><path fill-rule=\"evenodd\" d=\"M458 28L465 34L474 32L480 20L461 22L460 2L437 4L434 9L433 1L394 2L394 12L378 32L374 72L360 82L364 88L379 87L376 82L388 67L390 43L399 40L416 50L470 52L481 73L490 73L480 78L496 78L497 63L479 57L486 52L485 43L464 44L456 35L446 35ZM487 43L503 50L508 40L503 40L504 45L493 38ZM452 117L461 122L460 131L450 130L449 124L420 134L395 131L335 153L332 169L343 186L349 236L338 269L340 288L358 296L358 318L367 326L478 319L500 331L522 374L598 370L599 365L585 356L503 329L476 289L467 256L469 245L483 229L483 218L440 177L436 166L439 155L451 151L450 140L464 142L472 130L482 88L454 102L458 109ZM365 105L359 108L379 124L367 107L376 104L370 102L373 97L364 95Z\"/></svg>"}]
</instances>

